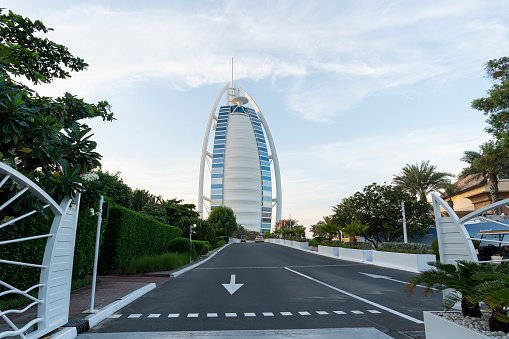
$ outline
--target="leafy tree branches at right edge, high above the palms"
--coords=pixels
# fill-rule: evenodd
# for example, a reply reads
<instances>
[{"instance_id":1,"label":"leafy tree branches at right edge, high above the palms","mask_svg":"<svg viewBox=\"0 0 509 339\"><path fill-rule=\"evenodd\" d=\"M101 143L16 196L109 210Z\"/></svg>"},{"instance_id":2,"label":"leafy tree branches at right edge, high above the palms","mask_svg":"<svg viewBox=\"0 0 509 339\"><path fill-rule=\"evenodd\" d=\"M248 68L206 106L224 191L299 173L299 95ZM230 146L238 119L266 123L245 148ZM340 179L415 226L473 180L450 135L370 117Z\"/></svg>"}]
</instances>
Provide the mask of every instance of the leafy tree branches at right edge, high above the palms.
<instances>
[{"instance_id":1,"label":"leafy tree branches at right edge, high above the palms","mask_svg":"<svg viewBox=\"0 0 509 339\"><path fill-rule=\"evenodd\" d=\"M475 99L472 108L488 116L486 128L497 140L507 139L509 134L509 57L489 60L485 65L486 75L495 84L487 91L488 96Z\"/></svg>"}]
</instances>

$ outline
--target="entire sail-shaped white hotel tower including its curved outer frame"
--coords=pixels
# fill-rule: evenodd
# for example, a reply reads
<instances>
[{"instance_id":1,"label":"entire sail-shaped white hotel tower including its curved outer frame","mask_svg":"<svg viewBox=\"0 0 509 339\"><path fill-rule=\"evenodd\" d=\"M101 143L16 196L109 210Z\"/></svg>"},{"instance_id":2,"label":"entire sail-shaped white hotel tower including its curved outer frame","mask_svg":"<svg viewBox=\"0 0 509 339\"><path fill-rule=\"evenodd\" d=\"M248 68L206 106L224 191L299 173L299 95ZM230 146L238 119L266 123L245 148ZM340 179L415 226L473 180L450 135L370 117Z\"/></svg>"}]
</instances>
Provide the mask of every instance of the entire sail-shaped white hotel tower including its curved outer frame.
<instances>
[{"instance_id":1,"label":"entire sail-shaped white hotel tower including its curved outer frame","mask_svg":"<svg viewBox=\"0 0 509 339\"><path fill-rule=\"evenodd\" d=\"M219 107L223 97L225 104ZM213 145L209 146L209 139ZM209 181L210 187L204 187ZM207 217L204 208L210 212L217 206L231 207L238 224L260 233L270 231L272 221L281 219L281 177L274 140L261 110L233 79L212 107L201 153L200 216Z\"/></svg>"}]
</instances>

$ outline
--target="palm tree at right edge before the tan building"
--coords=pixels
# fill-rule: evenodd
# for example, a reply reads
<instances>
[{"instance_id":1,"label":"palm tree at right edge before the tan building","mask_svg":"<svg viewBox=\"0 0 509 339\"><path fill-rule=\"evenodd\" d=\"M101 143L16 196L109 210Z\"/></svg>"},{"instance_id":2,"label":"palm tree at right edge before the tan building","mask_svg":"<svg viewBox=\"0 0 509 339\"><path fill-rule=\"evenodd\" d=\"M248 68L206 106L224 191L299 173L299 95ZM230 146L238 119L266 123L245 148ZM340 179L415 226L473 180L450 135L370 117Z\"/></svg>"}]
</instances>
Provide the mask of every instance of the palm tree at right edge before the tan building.
<instances>
[{"instance_id":1,"label":"palm tree at right edge before the tan building","mask_svg":"<svg viewBox=\"0 0 509 339\"><path fill-rule=\"evenodd\" d=\"M479 148L480 152L465 151L461 161L469 166L463 169L459 177L470 176L470 180L488 178L491 203L495 203L498 201L498 176L509 172L508 150L496 141L488 141Z\"/></svg>"}]
</instances>

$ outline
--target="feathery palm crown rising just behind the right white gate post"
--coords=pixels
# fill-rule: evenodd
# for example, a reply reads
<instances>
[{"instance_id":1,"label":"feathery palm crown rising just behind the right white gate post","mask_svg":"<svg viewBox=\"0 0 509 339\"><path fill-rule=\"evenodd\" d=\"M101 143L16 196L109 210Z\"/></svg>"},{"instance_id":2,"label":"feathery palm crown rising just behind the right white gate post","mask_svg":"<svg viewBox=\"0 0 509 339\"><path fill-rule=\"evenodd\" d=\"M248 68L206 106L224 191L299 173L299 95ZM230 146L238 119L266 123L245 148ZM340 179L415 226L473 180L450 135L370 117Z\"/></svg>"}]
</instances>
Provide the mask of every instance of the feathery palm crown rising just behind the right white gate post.
<instances>
[{"instance_id":1,"label":"feathery palm crown rising just behind the right white gate post","mask_svg":"<svg viewBox=\"0 0 509 339\"><path fill-rule=\"evenodd\" d=\"M446 172L437 172L437 166L430 165L428 161L422 161L421 164L406 164L401 173L395 175L392 183L396 187L401 187L410 194L416 196L421 201L426 201L426 196L439 190L448 177L452 174Z\"/></svg>"}]
</instances>

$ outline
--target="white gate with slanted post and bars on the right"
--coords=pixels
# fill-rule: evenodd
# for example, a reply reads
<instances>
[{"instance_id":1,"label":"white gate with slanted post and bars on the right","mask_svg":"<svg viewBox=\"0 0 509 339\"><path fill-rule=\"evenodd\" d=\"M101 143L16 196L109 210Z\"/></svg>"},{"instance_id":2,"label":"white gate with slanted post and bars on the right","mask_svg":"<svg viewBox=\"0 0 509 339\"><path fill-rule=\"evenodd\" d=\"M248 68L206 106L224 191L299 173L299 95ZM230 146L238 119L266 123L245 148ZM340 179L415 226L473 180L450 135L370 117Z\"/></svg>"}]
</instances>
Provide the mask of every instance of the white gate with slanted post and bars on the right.
<instances>
[{"instance_id":1,"label":"white gate with slanted post and bars on the right","mask_svg":"<svg viewBox=\"0 0 509 339\"><path fill-rule=\"evenodd\" d=\"M483 216L483 214L486 212L507 205L509 203L509 199L501 200L494 204L482 207L459 219L449 204L447 204L442 198L434 193L431 194L431 198L433 201L433 210L435 212L438 250L440 253L440 261L442 263L455 264L458 260L468 260L480 263L509 261L509 259L479 261L475 252L474 245L472 243L473 240L505 245L509 245L509 242L502 240L471 238L465 228L465 223L473 221L474 219L481 219L500 224L504 227L508 227L509 229L509 225L494 220L495 218L489 219ZM447 212L449 215L448 217L442 216L440 207L442 207Z\"/></svg>"}]
</instances>

